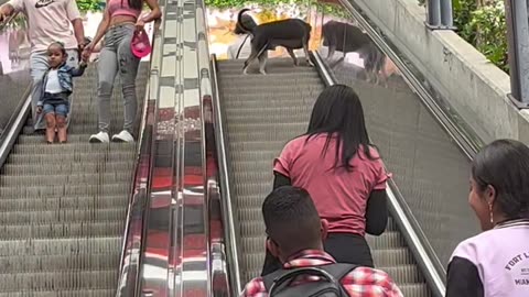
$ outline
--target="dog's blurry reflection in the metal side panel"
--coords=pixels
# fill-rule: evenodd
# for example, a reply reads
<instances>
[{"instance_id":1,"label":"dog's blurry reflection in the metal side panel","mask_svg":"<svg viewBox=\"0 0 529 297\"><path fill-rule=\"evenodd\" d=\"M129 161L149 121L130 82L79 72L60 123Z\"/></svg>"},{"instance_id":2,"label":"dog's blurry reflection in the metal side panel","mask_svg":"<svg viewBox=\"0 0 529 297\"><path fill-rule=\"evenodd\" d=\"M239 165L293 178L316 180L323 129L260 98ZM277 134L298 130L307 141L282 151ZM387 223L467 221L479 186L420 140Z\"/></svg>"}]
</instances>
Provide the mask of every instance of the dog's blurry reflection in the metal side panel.
<instances>
[{"instance_id":1,"label":"dog's blurry reflection in the metal side panel","mask_svg":"<svg viewBox=\"0 0 529 297\"><path fill-rule=\"evenodd\" d=\"M328 46L327 59L331 59L336 51L343 53L339 61L344 59L347 53L358 53L359 57L364 59L368 81L375 81L378 85L382 80L386 84L387 74L384 67L386 55L359 28L330 21L323 25L322 35L323 45Z\"/></svg>"}]
</instances>

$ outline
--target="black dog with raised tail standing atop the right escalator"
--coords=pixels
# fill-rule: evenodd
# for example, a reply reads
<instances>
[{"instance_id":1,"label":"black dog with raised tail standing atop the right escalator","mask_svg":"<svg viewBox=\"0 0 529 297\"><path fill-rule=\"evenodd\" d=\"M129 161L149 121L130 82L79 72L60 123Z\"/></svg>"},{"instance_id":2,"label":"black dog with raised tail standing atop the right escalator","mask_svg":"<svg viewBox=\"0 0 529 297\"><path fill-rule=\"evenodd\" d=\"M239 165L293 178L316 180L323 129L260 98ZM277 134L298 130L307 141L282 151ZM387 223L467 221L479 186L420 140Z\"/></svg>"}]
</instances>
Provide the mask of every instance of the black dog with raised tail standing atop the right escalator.
<instances>
[{"instance_id":1,"label":"black dog with raised tail standing atop the right escalator","mask_svg":"<svg viewBox=\"0 0 529 297\"><path fill-rule=\"evenodd\" d=\"M266 75L267 72L264 67L268 59L268 51L273 51L277 46L287 48L295 66L298 66L298 58L295 57L294 50L303 48L306 63L310 66L314 66L309 56L309 40L311 38L312 31L310 24L299 19L287 19L248 28L242 21L242 15L247 11L249 11L249 9L244 9L237 15L237 25L251 35L251 53L245 61L242 74L246 75L250 63L258 58L259 73Z\"/></svg>"}]
</instances>

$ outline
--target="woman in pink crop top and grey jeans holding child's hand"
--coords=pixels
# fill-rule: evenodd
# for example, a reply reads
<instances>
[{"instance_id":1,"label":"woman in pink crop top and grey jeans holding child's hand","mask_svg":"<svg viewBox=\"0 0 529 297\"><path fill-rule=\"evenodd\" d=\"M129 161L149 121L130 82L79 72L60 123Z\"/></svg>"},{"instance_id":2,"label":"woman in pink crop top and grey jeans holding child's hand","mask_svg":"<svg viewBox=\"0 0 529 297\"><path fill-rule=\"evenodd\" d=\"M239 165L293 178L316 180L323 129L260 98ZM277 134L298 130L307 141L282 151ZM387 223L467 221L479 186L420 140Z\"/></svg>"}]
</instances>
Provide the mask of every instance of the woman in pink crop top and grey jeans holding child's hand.
<instances>
[{"instance_id":1,"label":"woman in pink crop top and grey jeans holding child's hand","mask_svg":"<svg viewBox=\"0 0 529 297\"><path fill-rule=\"evenodd\" d=\"M151 12L140 16L143 4ZM156 0L107 0L107 7L96 36L85 47L83 56L87 59L95 46L105 36L104 46L99 54L97 97L99 114L99 133L90 136L95 143L108 143L110 141L110 97L114 89L114 80L119 74L125 105L125 123L121 132L115 134L115 142L132 142L133 127L137 114L138 100L136 96L136 76L140 58L133 55L130 43L134 32L143 31L145 23L161 16Z\"/></svg>"}]
</instances>

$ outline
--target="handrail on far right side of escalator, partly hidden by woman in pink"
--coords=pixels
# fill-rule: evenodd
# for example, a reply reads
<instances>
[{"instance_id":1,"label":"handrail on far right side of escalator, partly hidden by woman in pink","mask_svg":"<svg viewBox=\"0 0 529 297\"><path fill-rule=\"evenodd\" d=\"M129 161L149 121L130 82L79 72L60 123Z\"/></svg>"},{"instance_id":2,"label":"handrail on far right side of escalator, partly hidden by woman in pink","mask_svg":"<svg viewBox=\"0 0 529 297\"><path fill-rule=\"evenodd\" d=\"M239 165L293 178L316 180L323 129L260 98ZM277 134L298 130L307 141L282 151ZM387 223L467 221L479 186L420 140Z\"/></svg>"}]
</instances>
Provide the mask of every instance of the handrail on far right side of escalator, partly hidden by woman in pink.
<instances>
[{"instance_id":1,"label":"handrail on far right side of escalator, partly hidden by woman in pink","mask_svg":"<svg viewBox=\"0 0 529 297\"><path fill-rule=\"evenodd\" d=\"M312 54L317 70L323 78L325 85L336 85L337 80L331 74L320 54L317 52ZM389 187L386 189L386 194L389 201L389 211L393 220L399 226L400 230L404 231L402 232L403 237L409 244L409 248L414 255L415 261L421 267L421 271L424 274L424 278L430 285L430 289L432 290L433 295L435 297L443 297L446 290L443 278L438 273L434 262L429 256L429 253L424 248L423 240L421 240L421 237L419 235L420 233L415 231L417 229L413 227L412 220L410 220L410 217L407 216L407 212L404 211L408 206L402 205L403 199L397 198L399 196L401 198L401 195L392 180L388 183L388 186Z\"/></svg>"}]
</instances>

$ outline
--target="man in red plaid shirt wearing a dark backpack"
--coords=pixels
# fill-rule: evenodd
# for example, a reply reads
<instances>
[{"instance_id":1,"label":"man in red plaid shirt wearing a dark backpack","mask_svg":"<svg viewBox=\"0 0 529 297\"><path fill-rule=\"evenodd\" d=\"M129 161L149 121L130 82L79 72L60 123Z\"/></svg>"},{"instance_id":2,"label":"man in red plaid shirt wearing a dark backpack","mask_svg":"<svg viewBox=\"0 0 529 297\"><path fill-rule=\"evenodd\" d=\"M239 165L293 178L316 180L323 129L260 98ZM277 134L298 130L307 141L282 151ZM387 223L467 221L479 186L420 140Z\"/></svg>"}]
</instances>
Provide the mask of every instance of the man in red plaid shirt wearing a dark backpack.
<instances>
[{"instance_id":1,"label":"man in red plaid shirt wearing a dark backpack","mask_svg":"<svg viewBox=\"0 0 529 297\"><path fill-rule=\"evenodd\" d=\"M323 251L327 221L304 189L284 186L262 205L267 248L283 270L250 280L241 297L350 296L402 297L391 277L381 271L337 264Z\"/></svg>"}]
</instances>

